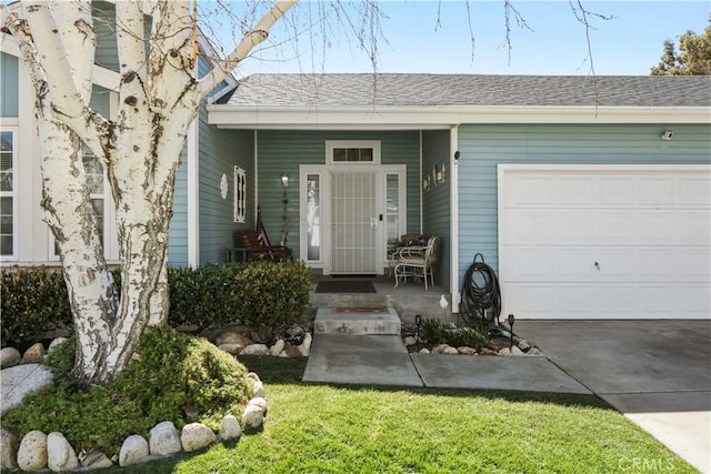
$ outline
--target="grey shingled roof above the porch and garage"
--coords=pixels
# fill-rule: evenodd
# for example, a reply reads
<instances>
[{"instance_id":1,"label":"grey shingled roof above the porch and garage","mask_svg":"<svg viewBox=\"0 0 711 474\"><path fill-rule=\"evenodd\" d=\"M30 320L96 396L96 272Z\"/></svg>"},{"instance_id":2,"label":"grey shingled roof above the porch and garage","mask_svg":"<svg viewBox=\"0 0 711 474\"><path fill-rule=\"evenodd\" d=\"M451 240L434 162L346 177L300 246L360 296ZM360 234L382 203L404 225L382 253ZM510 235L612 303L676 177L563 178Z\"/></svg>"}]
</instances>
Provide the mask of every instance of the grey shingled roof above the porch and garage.
<instances>
[{"instance_id":1,"label":"grey shingled roof above the porch and garage","mask_svg":"<svg viewBox=\"0 0 711 474\"><path fill-rule=\"evenodd\" d=\"M711 77L254 74L218 103L243 107L711 107Z\"/></svg>"}]
</instances>

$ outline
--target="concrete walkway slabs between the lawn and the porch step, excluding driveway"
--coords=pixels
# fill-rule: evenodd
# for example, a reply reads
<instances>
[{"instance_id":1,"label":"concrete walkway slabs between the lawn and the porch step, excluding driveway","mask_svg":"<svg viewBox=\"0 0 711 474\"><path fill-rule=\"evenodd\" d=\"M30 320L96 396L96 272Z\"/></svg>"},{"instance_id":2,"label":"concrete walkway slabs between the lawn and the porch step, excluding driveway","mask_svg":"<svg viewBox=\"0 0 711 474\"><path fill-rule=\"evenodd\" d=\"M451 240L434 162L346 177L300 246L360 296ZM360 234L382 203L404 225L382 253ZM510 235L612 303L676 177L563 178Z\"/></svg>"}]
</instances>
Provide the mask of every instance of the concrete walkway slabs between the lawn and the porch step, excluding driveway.
<instances>
[{"instance_id":1,"label":"concrete walkway slabs between the lawn and the porch step, excluding driveway","mask_svg":"<svg viewBox=\"0 0 711 474\"><path fill-rule=\"evenodd\" d=\"M303 381L591 394L545 357L410 354L399 335L317 333Z\"/></svg>"}]
</instances>

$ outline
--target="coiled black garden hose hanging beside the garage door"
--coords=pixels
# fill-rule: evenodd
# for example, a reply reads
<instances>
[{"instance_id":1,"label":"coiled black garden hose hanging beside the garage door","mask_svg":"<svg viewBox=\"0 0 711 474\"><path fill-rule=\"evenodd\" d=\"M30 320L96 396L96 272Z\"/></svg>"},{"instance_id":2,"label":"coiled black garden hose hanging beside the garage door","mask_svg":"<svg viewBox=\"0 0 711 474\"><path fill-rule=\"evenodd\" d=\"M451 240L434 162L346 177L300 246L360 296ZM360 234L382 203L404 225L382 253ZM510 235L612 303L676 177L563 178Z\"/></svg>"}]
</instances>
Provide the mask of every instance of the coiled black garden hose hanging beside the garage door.
<instances>
[{"instance_id":1,"label":"coiled black garden hose hanging beside the garage door","mask_svg":"<svg viewBox=\"0 0 711 474\"><path fill-rule=\"evenodd\" d=\"M501 289L493 269L484 262L481 253L464 273L461 291L462 316L470 324L488 322L499 325L501 314Z\"/></svg>"}]
</instances>

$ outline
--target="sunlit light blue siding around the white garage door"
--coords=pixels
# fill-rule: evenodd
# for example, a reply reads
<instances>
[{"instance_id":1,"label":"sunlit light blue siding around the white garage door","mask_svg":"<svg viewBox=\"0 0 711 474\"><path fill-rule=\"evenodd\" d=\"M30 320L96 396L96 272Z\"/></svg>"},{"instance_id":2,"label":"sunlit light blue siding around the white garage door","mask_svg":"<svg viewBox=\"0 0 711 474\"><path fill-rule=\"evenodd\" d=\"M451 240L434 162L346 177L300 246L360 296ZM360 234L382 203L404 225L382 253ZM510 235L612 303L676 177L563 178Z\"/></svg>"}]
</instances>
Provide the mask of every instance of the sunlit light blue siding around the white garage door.
<instances>
[{"instance_id":1,"label":"sunlit light blue siding around the white garage door","mask_svg":"<svg viewBox=\"0 0 711 474\"><path fill-rule=\"evenodd\" d=\"M662 131L674 139L662 141ZM459 128L460 282L475 253L498 269L497 164L711 163L711 127L462 125Z\"/></svg>"}]
</instances>

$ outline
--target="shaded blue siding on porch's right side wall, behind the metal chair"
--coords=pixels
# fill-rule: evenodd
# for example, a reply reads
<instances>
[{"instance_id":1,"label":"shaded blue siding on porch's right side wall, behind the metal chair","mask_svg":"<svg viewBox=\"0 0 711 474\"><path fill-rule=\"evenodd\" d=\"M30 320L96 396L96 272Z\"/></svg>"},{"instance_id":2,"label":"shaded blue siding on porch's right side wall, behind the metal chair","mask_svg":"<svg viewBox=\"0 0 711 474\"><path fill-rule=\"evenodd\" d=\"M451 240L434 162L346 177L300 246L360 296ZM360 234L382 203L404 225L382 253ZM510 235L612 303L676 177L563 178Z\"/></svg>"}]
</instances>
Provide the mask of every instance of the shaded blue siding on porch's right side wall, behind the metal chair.
<instances>
[{"instance_id":1,"label":"shaded blue siding on porch's right side wall, behind the metal chair","mask_svg":"<svg viewBox=\"0 0 711 474\"><path fill-rule=\"evenodd\" d=\"M449 130L422 132L422 174L432 177L435 167L444 164L449 168L450 132ZM440 255L434 273L434 282L444 288L450 283L450 170L444 173L444 182L432 183L430 191L422 193L422 233L439 235L441 239Z\"/></svg>"}]
</instances>

